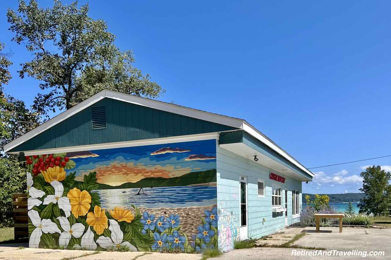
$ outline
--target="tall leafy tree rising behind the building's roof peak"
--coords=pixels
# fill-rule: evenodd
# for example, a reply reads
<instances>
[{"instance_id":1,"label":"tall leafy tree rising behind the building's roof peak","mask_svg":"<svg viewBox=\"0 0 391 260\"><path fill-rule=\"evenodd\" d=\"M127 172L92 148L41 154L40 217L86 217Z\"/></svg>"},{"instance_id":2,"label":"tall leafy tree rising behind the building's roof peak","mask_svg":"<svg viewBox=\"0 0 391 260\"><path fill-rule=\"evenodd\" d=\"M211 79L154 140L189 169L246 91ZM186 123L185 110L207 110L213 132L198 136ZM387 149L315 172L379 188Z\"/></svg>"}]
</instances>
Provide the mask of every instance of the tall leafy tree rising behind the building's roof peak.
<instances>
[{"instance_id":1,"label":"tall leafy tree rising behind the building's roof peak","mask_svg":"<svg viewBox=\"0 0 391 260\"><path fill-rule=\"evenodd\" d=\"M8 9L7 20L15 33L13 41L25 44L33 58L19 71L23 78L42 83L33 108L47 117L48 111L69 109L103 88L138 96L158 97L163 90L148 74L133 66L131 51L114 44L105 21L88 16L88 4L39 8L36 0L19 0L17 11Z\"/></svg>"}]
</instances>

